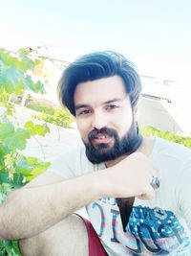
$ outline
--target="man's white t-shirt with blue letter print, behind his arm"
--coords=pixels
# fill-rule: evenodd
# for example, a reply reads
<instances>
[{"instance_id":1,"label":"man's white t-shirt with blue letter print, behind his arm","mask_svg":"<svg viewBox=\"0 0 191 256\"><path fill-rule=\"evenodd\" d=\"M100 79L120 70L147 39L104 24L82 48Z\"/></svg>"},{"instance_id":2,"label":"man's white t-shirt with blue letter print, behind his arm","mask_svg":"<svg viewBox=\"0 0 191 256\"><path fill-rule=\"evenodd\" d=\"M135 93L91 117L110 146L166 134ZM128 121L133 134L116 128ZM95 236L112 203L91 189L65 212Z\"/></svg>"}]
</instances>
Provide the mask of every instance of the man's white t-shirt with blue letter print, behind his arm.
<instances>
[{"instance_id":1,"label":"man's white t-shirt with blue letter print, behind his arm","mask_svg":"<svg viewBox=\"0 0 191 256\"><path fill-rule=\"evenodd\" d=\"M191 151L156 138L149 157L159 169L159 191L151 200L135 199L126 232L115 198L87 205L89 219L110 256L190 256ZM93 165L81 147L59 157L49 172L72 178L104 168L104 164Z\"/></svg>"}]
</instances>

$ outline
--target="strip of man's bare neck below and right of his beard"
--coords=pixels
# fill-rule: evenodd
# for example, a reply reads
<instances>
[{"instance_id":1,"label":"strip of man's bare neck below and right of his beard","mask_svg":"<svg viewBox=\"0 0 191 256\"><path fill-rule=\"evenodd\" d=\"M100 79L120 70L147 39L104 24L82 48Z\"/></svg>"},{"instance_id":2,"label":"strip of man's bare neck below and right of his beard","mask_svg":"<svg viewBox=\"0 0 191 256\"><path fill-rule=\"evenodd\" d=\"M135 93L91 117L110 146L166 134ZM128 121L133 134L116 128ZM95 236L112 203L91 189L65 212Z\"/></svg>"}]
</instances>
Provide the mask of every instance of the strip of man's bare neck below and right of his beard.
<instances>
[{"instance_id":1,"label":"strip of man's bare neck below and right of his beard","mask_svg":"<svg viewBox=\"0 0 191 256\"><path fill-rule=\"evenodd\" d=\"M149 155L153 151L154 144L155 144L155 138L143 137L142 142L138 146L138 149L136 151L142 152L145 155ZM134 151L134 152L136 152L136 151ZM133 153L133 152L131 152L131 153ZM109 168L109 167L116 165L121 160L128 157L131 153L123 154L123 155L117 157L115 160L105 162L106 167Z\"/></svg>"}]
</instances>

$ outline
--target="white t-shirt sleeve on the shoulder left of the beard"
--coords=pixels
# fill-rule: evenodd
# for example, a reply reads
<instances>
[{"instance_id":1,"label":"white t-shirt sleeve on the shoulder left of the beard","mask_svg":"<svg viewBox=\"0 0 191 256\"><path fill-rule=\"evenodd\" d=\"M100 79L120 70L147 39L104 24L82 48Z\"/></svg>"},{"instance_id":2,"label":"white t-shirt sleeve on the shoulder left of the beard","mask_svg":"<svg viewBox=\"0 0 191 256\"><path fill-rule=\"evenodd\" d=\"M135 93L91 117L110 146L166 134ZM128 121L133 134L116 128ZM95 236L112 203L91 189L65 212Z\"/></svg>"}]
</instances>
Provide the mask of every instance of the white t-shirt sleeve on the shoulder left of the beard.
<instances>
[{"instance_id":1,"label":"white t-shirt sleeve on the shoulder left of the beard","mask_svg":"<svg viewBox=\"0 0 191 256\"><path fill-rule=\"evenodd\" d=\"M77 147L60 154L47 172L69 179L94 172L94 166L88 161L84 147Z\"/></svg>"}]
</instances>

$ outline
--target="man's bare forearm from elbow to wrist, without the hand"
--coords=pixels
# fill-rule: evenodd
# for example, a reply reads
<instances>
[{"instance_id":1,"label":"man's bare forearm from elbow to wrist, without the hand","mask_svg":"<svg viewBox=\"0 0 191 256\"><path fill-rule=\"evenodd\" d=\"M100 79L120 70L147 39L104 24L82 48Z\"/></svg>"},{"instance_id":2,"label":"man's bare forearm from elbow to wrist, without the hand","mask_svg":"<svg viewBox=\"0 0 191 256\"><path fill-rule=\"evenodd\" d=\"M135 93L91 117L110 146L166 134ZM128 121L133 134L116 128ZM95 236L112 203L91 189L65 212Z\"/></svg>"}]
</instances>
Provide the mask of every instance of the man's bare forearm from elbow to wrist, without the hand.
<instances>
[{"instance_id":1,"label":"man's bare forearm from elbow to wrist, without the hand","mask_svg":"<svg viewBox=\"0 0 191 256\"><path fill-rule=\"evenodd\" d=\"M32 237L104 196L101 172L14 191L0 208L0 239Z\"/></svg>"}]
</instances>

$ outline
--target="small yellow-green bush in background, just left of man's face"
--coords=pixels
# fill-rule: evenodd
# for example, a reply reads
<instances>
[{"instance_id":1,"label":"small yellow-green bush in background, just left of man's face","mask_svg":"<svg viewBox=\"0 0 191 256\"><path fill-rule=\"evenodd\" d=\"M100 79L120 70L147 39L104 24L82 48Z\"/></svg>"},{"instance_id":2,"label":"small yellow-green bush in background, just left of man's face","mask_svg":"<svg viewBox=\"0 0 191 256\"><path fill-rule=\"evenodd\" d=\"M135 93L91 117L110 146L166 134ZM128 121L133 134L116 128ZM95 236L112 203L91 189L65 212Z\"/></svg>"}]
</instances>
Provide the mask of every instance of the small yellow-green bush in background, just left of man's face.
<instances>
[{"instance_id":1,"label":"small yellow-green bush in background, just left of man's face","mask_svg":"<svg viewBox=\"0 0 191 256\"><path fill-rule=\"evenodd\" d=\"M63 128L68 128L74 121L73 116L65 107L54 110L53 115L41 113L39 115L35 115L35 117Z\"/></svg>"}]
</instances>

